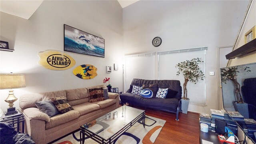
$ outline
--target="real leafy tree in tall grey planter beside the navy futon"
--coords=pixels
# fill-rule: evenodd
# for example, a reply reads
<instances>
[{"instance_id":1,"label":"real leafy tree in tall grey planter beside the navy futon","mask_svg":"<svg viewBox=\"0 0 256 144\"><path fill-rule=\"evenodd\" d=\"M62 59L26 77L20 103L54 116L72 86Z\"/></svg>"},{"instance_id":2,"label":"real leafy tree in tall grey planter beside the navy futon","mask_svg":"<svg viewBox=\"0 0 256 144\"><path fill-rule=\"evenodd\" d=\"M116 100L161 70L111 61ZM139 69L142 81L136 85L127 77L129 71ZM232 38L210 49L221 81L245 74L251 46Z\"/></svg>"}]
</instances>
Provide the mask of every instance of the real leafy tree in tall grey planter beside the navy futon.
<instances>
[{"instance_id":1,"label":"real leafy tree in tall grey planter beside the navy futon","mask_svg":"<svg viewBox=\"0 0 256 144\"><path fill-rule=\"evenodd\" d=\"M204 80L204 73L202 70L200 70L199 63L204 62L201 58L193 58L192 60L186 60L184 62L180 62L176 64L176 67L178 67L178 71L176 75L183 74L185 82L183 84L183 97L182 97L182 113L188 112L188 104L189 104L189 98L188 98L188 90L187 90L187 84L188 82L192 82L196 84L198 80Z\"/></svg>"}]
</instances>

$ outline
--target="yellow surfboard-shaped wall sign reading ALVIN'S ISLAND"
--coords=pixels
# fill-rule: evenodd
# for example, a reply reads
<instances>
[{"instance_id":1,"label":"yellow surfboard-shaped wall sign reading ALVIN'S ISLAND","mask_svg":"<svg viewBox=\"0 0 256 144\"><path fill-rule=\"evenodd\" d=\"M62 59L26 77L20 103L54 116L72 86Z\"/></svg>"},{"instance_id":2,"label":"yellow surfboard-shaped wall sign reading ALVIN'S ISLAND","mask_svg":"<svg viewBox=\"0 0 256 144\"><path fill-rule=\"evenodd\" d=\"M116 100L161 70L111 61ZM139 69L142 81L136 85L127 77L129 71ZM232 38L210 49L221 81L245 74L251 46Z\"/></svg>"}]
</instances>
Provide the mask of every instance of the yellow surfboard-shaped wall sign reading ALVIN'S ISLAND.
<instances>
[{"instance_id":1,"label":"yellow surfboard-shaped wall sign reading ALVIN'S ISLAND","mask_svg":"<svg viewBox=\"0 0 256 144\"><path fill-rule=\"evenodd\" d=\"M67 70L72 68L76 61L68 54L60 51L46 50L38 53L38 64L50 70Z\"/></svg>"}]
</instances>

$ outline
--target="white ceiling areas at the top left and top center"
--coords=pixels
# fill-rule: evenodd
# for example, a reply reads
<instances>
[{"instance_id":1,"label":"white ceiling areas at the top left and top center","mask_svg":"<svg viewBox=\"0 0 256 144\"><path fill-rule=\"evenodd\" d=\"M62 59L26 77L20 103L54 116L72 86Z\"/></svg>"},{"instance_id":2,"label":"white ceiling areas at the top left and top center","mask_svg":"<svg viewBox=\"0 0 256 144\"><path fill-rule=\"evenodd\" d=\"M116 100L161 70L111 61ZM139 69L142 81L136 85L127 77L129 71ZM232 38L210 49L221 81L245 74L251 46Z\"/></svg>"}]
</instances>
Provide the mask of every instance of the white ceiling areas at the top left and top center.
<instances>
[{"instance_id":1,"label":"white ceiling areas at the top left and top center","mask_svg":"<svg viewBox=\"0 0 256 144\"><path fill-rule=\"evenodd\" d=\"M0 11L29 19L44 0L0 0ZM122 8L138 0L118 0Z\"/></svg>"}]
</instances>

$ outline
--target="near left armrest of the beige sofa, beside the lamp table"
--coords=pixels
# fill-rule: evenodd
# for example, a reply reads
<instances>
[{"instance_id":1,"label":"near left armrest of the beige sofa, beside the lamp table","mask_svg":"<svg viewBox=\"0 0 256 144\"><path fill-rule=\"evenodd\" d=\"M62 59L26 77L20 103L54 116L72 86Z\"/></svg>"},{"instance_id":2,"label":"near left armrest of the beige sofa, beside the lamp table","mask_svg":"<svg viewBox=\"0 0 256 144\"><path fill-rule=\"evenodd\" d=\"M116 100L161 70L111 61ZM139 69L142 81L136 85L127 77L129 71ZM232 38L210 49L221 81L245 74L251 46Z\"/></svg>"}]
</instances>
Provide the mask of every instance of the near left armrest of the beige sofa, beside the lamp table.
<instances>
[{"instance_id":1,"label":"near left armrest of the beige sofa, beside the lamp table","mask_svg":"<svg viewBox=\"0 0 256 144\"><path fill-rule=\"evenodd\" d=\"M50 117L40 112L38 108L26 108L23 110L23 114L28 117L29 120L44 120L46 122L50 122Z\"/></svg>"}]
</instances>

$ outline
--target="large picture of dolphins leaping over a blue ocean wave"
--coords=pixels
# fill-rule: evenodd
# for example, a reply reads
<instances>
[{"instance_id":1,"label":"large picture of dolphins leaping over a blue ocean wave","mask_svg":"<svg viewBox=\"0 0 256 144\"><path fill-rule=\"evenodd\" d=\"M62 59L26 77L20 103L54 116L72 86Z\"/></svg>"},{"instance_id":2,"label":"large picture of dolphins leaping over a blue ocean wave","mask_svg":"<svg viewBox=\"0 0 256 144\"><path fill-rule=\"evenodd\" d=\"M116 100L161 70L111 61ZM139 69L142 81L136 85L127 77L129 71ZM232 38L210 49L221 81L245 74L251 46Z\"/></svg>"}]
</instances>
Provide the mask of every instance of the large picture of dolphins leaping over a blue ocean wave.
<instances>
[{"instance_id":1,"label":"large picture of dolphins leaping over a blue ocean wave","mask_svg":"<svg viewBox=\"0 0 256 144\"><path fill-rule=\"evenodd\" d=\"M64 51L105 57L105 40L64 24Z\"/></svg>"}]
</instances>

